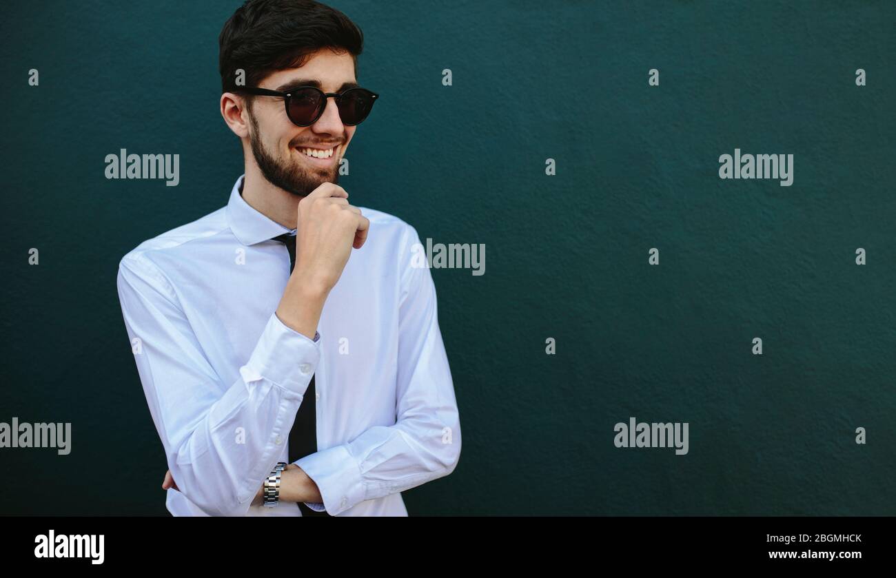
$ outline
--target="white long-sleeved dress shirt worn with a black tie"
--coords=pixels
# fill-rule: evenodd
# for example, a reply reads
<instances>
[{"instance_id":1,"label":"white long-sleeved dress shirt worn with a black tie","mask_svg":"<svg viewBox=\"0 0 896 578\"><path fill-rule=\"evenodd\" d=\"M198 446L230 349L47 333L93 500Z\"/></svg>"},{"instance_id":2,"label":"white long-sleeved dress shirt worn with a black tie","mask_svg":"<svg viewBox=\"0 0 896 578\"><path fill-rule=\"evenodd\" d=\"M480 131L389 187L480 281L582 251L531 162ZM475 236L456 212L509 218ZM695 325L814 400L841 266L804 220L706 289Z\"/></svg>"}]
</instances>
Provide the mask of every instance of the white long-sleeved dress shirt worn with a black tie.
<instances>
[{"instance_id":1,"label":"white long-sleeved dress shirt worn with a black tie","mask_svg":"<svg viewBox=\"0 0 896 578\"><path fill-rule=\"evenodd\" d=\"M255 211L237 179L226 207L126 254L118 296L179 490L174 515L300 516L250 505L314 375L317 452L297 464L332 515L408 515L401 491L450 474L461 453L452 376L417 230L381 211L352 249L311 340L274 313L289 229ZM159 470L147 471L152 479Z\"/></svg>"}]
</instances>

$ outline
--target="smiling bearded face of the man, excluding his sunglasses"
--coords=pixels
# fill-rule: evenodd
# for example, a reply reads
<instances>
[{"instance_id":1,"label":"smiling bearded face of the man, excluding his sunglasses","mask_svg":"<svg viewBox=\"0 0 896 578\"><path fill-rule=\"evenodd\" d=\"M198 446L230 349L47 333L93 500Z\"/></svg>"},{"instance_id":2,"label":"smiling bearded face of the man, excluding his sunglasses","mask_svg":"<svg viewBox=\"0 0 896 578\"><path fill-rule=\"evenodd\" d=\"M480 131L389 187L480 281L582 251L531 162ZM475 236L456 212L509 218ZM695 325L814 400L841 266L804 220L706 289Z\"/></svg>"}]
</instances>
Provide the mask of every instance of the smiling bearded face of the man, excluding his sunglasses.
<instances>
[{"instance_id":1,"label":"smiling bearded face of the man, excluding his sunglasses","mask_svg":"<svg viewBox=\"0 0 896 578\"><path fill-rule=\"evenodd\" d=\"M327 48L316 52L304 66L272 73L259 86L273 91L316 80L324 92L338 92L344 82L357 82L350 54L335 55ZM339 182L339 163L349 147L355 126L342 124L336 100L327 99L323 115L313 125L297 126L289 121L283 99L255 97L249 116L249 142L263 176L292 194L305 196L325 182ZM307 154L314 149L322 158ZM330 157L324 157L333 149Z\"/></svg>"}]
</instances>

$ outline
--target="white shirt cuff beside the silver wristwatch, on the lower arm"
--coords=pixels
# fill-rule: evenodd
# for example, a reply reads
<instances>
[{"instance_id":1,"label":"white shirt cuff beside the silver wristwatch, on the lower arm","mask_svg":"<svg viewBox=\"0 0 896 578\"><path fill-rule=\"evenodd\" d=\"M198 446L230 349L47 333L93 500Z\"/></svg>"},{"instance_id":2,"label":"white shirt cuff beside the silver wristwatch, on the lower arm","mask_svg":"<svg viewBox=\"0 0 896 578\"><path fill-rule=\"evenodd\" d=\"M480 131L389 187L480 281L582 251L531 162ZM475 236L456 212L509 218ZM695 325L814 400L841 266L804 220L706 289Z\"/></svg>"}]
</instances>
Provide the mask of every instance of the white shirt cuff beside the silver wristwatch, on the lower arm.
<instances>
[{"instance_id":1,"label":"white shirt cuff beside the silver wristwatch, on the lower arm","mask_svg":"<svg viewBox=\"0 0 896 578\"><path fill-rule=\"evenodd\" d=\"M320 452L310 453L293 463L305 470L308 477L317 484L324 508L330 515L339 515L364 501L365 489L360 467L345 445L334 445Z\"/></svg>"}]
</instances>

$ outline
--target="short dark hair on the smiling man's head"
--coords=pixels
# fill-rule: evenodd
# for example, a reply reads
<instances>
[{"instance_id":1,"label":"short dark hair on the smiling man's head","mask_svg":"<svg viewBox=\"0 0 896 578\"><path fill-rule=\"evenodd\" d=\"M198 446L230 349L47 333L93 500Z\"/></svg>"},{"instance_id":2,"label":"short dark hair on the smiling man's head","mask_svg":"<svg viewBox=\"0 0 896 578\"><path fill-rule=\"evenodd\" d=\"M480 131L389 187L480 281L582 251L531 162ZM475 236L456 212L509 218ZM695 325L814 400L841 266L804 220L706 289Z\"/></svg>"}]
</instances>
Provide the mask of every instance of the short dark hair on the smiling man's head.
<instances>
[{"instance_id":1,"label":"short dark hair on the smiling man's head","mask_svg":"<svg viewBox=\"0 0 896 578\"><path fill-rule=\"evenodd\" d=\"M237 69L246 86L278 70L303 66L321 48L349 52L358 71L364 33L340 11L314 0L246 0L218 37L221 91L235 91ZM251 102L251 96L247 96Z\"/></svg>"}]
</instances>

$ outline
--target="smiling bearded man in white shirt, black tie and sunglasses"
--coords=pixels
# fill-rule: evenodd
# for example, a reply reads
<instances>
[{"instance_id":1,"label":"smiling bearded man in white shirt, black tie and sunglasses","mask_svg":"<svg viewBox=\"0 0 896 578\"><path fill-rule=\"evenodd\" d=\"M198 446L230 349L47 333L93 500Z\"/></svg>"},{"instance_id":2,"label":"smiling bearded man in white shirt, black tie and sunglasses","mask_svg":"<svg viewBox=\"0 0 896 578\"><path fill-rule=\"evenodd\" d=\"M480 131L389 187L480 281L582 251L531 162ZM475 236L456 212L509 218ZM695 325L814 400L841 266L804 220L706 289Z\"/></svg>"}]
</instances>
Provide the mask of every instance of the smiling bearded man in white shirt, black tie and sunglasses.
<instances>
[{"instance_id":1,"label":"smiling bearded man in white shirt, black tie and sunglasses","mask_svg":"<svg viewBox=\"0 0 896 578\"><path fill-rule=\"evenodd\" d=\"M407 515L401 491L457 465L417 231L336 184L377 96L358 87L362 44L316 2L237 9L220 34L220 112L245 174L227 206L120 263L174 515Z\"/></svg>"}]
</instances>

